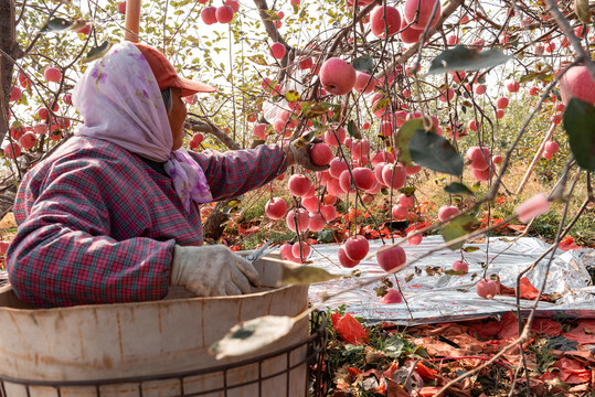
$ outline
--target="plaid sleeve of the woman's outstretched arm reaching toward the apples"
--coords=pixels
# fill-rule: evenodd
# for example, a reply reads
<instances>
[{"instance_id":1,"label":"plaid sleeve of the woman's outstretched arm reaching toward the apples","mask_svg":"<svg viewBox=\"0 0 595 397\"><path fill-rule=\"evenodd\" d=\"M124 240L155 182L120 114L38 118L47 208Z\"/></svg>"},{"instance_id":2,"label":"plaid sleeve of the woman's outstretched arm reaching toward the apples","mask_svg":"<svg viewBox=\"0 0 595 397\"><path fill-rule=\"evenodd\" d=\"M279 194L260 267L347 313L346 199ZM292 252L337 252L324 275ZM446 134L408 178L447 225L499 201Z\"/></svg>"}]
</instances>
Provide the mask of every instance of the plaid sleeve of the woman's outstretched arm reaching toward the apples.
<instances>
[{"instance_id":1,"label":"plaid sleeve of the woman's outstretched arm reaching toward the apples","mask_svg":"<svg viewBox=\"0 0 595 397\"><path fill-rule=\"evenodd\" d=\"M261 187L287 169L287 157L277 144L224 153L205 150L192 155L206 175L214 201Z\"/></svg>"}]
</instances>

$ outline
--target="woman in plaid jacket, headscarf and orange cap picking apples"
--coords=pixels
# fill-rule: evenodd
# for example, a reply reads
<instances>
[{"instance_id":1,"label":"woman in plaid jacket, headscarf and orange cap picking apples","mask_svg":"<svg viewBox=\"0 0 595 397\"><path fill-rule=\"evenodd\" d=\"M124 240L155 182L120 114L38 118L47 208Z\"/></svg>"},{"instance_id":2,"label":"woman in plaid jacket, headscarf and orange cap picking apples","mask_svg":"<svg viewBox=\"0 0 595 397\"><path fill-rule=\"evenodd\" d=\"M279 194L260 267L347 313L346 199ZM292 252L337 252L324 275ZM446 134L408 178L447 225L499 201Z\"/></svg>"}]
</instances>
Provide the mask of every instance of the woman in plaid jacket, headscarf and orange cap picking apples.
<instances>
[{"instance_id":1,"label":"woman in plaid jacket, headscarf and orange cap picking apples","mask_svg":"<svg viewBox=\"0 0 595 397\"><path fill-rule=\"evenodd\" d=\"M182 97L215 90L181 78L159 51L124 42L88 67L73 101L84 126L23 179L7 253L17 296L40 307L246 293L249 262L202 245L199 203L259 187L309 148L226 153L182 148Z\"/></svg>"}]
</instances>

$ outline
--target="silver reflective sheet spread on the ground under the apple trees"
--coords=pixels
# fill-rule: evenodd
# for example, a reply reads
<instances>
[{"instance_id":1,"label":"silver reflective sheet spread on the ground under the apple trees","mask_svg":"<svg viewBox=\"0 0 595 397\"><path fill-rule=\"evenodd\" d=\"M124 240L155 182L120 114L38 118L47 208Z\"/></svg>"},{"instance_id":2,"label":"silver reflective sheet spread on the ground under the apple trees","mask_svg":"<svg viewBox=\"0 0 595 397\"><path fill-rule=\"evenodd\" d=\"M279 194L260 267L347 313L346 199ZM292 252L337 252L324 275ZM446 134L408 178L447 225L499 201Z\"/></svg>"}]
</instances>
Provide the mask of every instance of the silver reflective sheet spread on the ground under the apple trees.
<instances>
[{"instance_id":1,"label":"silver reflective sheet spread on the ground under the apple trees","mask_svg":"<svg viewBox=\"0 0 595 397\"><path fill-rule=\"evenodd\" d=\"M427 255L442 245L444 245L442 236L428 236L424 237L418 246L403 246L407 254L407 262L425 256L396 273L407 304L405 302L382 304L374 291L382 286L380 281L359 286L385 275L379 267L375 256L362 260L353 269L346 269L339 265L337 257L339 245L315 245L309 266L342 275L358 270L360 276L310 286L310 301L321 308L337 308L344 304L347 312L362 316L366 323L391 321L399 324L423 324L503 314L514 310L516 297L510 288L516 287L517 276L535 264L534 269L525 273L524 281L529 288L532 285L539 289L544 280L545 266L552 260L545 279L546 300L539 302L538 315L595 318L595 287L592 286L587 271L588 266L595 266L595 249L582 248L569 251L559 249L553 258L552 254L549 254L536 262L550 247L538 238L479 238L464 247L467 253L464 251L463 256L469 264L469 272L465 276L449 276L444 270L449 270L454 261L461 259L461 251L445 248ZM370 253L381 246L380 239L370 240ZM468 249L469 247L472 248ZM508 292L509 296L499 294L491 300L477 296L475 286L482 278L486 267L487 276L497 275L502 286L501 291ZM394 283L394 276L389 279ZM340 293L341 291L344 292ZM323 296L330 298L322 302ZM521 299L521 307L525 312L533 304L532 300Z\"/></svg>"}]
</instances>

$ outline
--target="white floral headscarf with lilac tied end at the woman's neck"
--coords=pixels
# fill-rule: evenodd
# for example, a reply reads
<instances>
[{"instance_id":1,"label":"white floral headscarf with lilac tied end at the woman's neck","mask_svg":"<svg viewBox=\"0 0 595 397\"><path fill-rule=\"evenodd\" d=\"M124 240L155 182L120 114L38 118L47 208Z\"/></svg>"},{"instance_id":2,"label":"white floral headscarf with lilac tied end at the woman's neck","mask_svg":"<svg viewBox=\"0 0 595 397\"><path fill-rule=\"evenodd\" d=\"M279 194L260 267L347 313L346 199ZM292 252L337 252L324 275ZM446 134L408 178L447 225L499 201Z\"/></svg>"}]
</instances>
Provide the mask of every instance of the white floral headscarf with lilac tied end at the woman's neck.
<instances>
[{"instance_id":1,"label":"white floral headscarf with lilac tied end at the woman's neck","mask_svg":"<svg viewBox=\"0 0 595 397\"><path fill-rule=\"evenodd\" d=\"M116 143L149 160L164 162L184 208L213 201L201 167L173 138L157 79L130 42L114 45L74 87L73 104L85 120L74 135Z\"/></svg>"}]
</instances>

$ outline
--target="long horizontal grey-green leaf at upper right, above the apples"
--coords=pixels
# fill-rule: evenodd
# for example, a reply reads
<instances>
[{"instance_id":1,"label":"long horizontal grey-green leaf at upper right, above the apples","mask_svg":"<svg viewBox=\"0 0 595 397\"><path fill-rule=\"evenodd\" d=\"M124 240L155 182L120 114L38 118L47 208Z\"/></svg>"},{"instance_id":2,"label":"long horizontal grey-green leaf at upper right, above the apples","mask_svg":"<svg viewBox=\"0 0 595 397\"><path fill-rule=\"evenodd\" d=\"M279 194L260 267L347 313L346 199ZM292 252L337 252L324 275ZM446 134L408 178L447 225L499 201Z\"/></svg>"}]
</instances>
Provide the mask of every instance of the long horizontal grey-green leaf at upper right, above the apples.
<instances>
[{"instance_id":1,"label":"long horizontal grey-green leaf at upper right, above the apples","mask_svg":"<svg viewBox=\"0 0 595 397\"><path fill-rule=\"evenodd\" d=\"M512 55L504 55L498 50L477 52L465 45L457 45L453 50L445 50L429 64L428 75L450 71L479 71L493 67L511 60Z\"/></svg>"}]
</instances>

